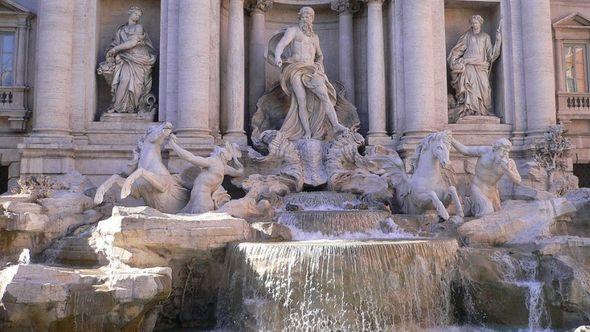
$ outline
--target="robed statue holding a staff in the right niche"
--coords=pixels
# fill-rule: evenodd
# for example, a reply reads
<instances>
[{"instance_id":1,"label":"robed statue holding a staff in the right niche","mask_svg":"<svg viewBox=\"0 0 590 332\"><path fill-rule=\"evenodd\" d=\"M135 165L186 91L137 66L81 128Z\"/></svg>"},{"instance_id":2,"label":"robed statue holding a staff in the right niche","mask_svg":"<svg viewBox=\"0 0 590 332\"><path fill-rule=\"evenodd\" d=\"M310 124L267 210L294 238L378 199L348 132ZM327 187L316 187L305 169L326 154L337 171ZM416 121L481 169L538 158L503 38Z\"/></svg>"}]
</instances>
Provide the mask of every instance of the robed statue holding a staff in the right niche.
<instances>
[{"instance_id":1,"label":"robed statue holding a staff in the right niche","mask_svg":"<svg viewBox=\"0 0 590 332\"><path fill-rule=\"evenodd\" d=\"M449 119L455 122L467 115L493 115L490 72L502 47L502 24L496 31L496 43L481 30L484 22L479 15L469 20L471 28L459 38L447 61L451 70L451 86L455 90L455 105Z\"/></svg>"}]
</instances>

